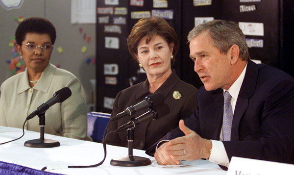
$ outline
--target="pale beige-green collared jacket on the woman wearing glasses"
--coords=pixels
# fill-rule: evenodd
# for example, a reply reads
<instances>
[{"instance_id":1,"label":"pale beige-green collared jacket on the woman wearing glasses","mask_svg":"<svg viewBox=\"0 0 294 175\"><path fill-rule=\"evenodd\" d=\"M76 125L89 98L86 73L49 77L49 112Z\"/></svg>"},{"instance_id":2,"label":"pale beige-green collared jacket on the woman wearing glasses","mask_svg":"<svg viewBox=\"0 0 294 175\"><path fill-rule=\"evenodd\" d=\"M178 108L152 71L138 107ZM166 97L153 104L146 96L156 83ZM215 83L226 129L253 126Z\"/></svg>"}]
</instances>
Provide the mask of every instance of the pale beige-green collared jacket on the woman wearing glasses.
<instances>
[{"instance_id":1,"label":"pale beige-green collared jacket on the woman wearing glasses","mask_svg":"<svg viewBox=\"0 0 294 175\"><path fill-rule=\"evenodd\" d=\"M72 96L62 103L52 105L46 111L45 133L85 139L87 112L81 83L72 73L50 63L32 88L28 84L27 69L2 83L0 125L22 128L25 118L63 87L69 87ZM25 129L40 131L39 118L28 120ZM87 139L91 140L90 137Z\"/></svg>"}]
</instances>

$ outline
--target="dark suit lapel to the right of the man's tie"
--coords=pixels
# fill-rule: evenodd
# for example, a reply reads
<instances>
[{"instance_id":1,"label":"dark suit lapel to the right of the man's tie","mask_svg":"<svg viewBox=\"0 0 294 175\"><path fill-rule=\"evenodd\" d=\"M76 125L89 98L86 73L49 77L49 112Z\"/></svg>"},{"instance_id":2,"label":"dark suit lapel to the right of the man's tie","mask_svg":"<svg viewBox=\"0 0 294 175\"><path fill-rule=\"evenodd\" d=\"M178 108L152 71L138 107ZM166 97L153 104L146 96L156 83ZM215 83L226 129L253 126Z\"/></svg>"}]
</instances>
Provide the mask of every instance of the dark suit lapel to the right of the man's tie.
<instances>
[{"instance_id":1,"label":"dark suit lapel to the right of the man's tie","mask_svg":"<svg viewBox=\"0 0 294 175\"><path fill-rule=\"evenodd\" d=\"M248 107L248 100L254 94L258 76L258 67L248 61L245 77L238 95L232 122L231 140L239 140L239 124Z\"/></svg>"}]
</instances>

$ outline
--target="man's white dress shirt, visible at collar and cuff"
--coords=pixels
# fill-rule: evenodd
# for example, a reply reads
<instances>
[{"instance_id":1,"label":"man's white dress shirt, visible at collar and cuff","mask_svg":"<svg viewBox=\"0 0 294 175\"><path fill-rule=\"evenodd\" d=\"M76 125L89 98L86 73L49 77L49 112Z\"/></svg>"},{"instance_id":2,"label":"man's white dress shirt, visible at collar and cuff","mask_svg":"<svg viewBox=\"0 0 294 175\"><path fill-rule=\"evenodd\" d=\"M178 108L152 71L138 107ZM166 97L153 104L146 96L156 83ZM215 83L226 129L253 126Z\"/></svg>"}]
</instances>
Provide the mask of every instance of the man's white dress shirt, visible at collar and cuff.
<instances>
[{"instance_id":1,"label":"man's white dress shirt, visible at collar and cuff","mask_svg":"<svg viewBox=\"0 0 294 175\"><path fill-rule=\"evenodd\" d=\"M232 110L233 114L235 111L238 95L245 77L245 72L246 72L247 64L245 65L244 70L242 71L241 75L237 78L237 80L232 84L232 86L227 90L230 95L232 96L231 99L231 105L232 105ZM223 93L226 90L223 90ZM223 140L222 137L222 127L221 127L221 135L220 135L220 141L217 140L211 140L212 142L212 150L211 154L209 157L209 161L213 163L217 163L222 166L228 167L230 165L230 161L228 158L228 155L224 149L223 143L221 142Z\"/></svg>"}]
</instances>

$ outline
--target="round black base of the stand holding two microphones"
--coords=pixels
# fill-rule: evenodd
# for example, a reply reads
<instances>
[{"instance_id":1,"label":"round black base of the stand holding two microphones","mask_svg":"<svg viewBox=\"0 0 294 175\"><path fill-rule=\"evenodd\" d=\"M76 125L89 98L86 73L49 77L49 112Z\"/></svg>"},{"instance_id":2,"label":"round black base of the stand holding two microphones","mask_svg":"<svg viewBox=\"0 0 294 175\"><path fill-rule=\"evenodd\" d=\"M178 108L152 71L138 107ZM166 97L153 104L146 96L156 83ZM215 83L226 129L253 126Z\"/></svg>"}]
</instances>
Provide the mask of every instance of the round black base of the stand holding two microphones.
<instances>
[{"instance_id":1,"label":"round black base of the stand holding two microphones","mask_svg":"<svg viewBox=\"0 0 294 175\"><path fill-rule=\"evenodd\" d=\"M120 166L120 167L140 167L147 166L151 164L151 160L146 157L139 156L123 156L116 159L111 159L110 165Z\"/></svg>"}]
</instances>

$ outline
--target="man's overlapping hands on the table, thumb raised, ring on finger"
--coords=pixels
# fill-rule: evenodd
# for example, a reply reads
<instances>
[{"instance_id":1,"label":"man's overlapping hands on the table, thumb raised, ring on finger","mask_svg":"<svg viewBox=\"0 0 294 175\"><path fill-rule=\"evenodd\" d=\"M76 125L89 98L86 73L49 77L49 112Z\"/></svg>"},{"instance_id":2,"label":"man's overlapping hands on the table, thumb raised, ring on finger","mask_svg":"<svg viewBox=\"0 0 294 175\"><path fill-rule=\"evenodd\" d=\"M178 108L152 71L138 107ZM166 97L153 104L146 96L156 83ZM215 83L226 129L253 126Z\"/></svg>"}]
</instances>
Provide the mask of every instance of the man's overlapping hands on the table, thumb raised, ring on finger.
<instances>
[{"instance_id":1,"label":"man's overlapping hands on the table, thumb raised, ring on finger","mask_svg":"<svg viewBox=\"0 0 294 175\"><path fill-rule=\"evenodd\" d=\"M180 120L179 127L185 136L172 139L159 147L154 157L161 165L179 164L179 160L198 160L209 158L212 142L201 138Z\"/></svg>"}]
</instances>

